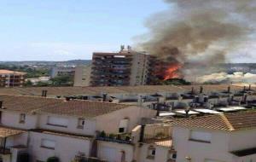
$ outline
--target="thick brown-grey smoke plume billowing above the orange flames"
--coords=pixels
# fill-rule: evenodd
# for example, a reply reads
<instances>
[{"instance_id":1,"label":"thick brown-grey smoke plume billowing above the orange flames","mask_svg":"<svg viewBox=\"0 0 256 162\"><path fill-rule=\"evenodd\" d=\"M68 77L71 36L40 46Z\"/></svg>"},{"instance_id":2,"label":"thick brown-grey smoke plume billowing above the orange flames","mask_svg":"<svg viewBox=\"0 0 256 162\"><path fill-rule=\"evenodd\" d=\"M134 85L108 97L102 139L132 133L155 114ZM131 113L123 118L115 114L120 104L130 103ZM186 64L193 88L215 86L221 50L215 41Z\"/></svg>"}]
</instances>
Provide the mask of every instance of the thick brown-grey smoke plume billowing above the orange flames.
<instances>
[{"instance_id":1,"label":"thick brown-grey smoke plume billowing above the orange flames","mask_svg":"<svg viewBox=\"0 0 256 162\"><path fill-rule=\"evenodd\" d=\"M183 66L183 76L201 76L207 67L252 40L256 0L166 0L170 9L147 22L149 36L139 47ZM203 69L201 67L204 67Z\"/></svg>"}]
</instances>

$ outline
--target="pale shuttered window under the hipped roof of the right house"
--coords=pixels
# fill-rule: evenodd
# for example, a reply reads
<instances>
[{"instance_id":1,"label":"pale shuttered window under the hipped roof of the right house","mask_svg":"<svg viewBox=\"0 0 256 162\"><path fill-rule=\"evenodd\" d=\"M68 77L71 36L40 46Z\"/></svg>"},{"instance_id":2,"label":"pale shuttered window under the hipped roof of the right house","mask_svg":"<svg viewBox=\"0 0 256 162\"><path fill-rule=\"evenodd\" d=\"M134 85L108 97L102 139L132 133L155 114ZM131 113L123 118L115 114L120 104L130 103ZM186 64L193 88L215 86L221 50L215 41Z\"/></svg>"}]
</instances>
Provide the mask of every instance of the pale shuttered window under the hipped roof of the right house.
<instances>
[{"instance_id":1,"label":"pale shuttered window under the hipped roof of the right house","mask_svg":"<svg viewBox=\"0 0 256 162\"><path fill-rule=\"evenodd\" d=\"M212 134L205 131L196 131L191 130L190 131L190 141L196 141L196 142L208 142L210 143L212 140Z\"/></svg>"}]
</instances>

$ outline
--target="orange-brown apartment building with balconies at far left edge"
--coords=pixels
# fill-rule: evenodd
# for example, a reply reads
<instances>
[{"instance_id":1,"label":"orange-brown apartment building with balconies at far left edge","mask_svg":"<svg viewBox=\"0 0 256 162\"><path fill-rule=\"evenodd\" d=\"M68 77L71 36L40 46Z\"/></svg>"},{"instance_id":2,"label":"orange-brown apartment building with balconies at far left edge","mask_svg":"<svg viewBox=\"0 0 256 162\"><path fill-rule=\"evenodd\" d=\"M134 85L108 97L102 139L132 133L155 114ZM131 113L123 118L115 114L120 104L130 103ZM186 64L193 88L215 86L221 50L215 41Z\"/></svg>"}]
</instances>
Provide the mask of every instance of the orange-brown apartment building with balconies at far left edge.
<instances>
[{"instance_id":1,"label":"orange-brown apartment building with balconies at far left edge","mask_svg":"<svg viewBox=\"0 0 256 162\"><path fill-rule=\"evenodd\" d=\"M25 72L0 70L0 87L22 87Z\"/></svg>"}]
</instances>

